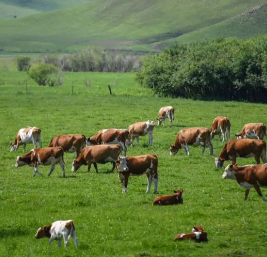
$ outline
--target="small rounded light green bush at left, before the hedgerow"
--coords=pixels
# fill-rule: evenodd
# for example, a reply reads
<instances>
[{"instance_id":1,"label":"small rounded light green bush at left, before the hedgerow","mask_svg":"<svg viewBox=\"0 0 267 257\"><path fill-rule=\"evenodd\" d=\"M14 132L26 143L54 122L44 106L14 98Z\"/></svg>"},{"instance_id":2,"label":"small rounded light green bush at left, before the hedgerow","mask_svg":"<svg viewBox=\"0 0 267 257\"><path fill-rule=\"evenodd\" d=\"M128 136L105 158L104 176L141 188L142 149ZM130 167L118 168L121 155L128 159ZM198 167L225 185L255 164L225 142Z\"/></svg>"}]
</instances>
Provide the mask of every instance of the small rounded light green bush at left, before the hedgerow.
<instances>
[{"instance_id":1,"label":"small rounded light green bush at left, before the hedgerow","mask_svg":"<svg viewBox=\"0 0 267 257\"><path fill-rule=\"evenodd\" d=\"M45 63L34 64L28 71L30 78L40 86L47 85L50 81L51 75L57 73L57 67L55 67L53 64Z\"/></svg>"}]
</instances>

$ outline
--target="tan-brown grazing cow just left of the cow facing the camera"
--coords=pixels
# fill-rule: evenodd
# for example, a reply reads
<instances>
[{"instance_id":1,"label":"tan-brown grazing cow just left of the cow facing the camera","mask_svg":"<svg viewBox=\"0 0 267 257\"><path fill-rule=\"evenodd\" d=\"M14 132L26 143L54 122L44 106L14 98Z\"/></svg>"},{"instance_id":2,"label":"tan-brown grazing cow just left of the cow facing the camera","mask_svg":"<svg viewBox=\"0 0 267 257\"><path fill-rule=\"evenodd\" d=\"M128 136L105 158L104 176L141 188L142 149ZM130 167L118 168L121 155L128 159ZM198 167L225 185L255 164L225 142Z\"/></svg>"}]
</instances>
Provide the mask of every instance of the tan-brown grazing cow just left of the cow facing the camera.
<instances>
[{"instance_id":1,"label":"tan-brown grazing cow just left of the cow facing the camera","mask_svg":"<svg viewBox=\"0 0 267 257\"><path fill-rule=\"evenodd\" d=\"M121 145L90 145L83 148L82 153L72 162L72 172L76 172L82 165L88 165L88 172L92 163L98 173L97 163L105 164L112 162L115 169L115 162L122 152Z\"/></svg>"}]
</instances>

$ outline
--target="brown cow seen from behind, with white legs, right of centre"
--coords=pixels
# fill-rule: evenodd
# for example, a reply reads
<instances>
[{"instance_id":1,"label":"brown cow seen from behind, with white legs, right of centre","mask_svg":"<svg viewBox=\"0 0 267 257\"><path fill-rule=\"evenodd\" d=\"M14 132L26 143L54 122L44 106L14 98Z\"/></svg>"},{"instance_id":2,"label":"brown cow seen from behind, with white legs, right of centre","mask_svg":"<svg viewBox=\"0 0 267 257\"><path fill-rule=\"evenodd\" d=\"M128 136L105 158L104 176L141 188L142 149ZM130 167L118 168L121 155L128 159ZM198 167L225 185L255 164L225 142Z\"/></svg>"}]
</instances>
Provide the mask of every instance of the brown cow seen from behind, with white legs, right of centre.
<instances>
[{"instance_id":1,"label":"brown cow seen from behind, with white legs, right of centre","mask_svg":"<svg viewBox=\"0 0 267 257\"><path fill-rule=\"evenodd\" d=\"M215 135L219 135L219 141L221 141L221 134L222 134L222 142L226 139L230 140L230 120L227 117L219 116L215 118L211 125L211 139L213 140Z\"/></svg>"}]
</instances>

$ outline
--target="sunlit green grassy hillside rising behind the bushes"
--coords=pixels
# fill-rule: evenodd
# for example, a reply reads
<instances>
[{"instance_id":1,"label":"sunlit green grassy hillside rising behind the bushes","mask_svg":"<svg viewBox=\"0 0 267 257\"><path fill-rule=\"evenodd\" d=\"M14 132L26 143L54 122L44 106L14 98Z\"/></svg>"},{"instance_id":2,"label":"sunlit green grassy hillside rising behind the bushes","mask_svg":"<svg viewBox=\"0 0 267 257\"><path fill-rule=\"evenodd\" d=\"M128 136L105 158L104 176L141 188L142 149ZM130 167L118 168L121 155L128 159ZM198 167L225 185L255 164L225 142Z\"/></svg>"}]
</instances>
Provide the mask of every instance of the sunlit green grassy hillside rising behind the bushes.
<instances>
[{"instance_id":1,"label":"sunlit green grassy hillside rising behind the bushes","mask_svg":"<svg viewBox=\"0 0 267 257\"><path fill-rule=\"evenodd\" d=\"M151 49L174 40L188 41L217 35L248 37L252 32L265 31L265 26L253 27L249 17L247 24L245 21L238 23L235 19L240 21L236 18L238 15L265 1L96 0L16 20L0 21L0 49L72 51L88 45ZM258 12L263 11L255 12L255 16ZM261 25L264 24L263 18L264 13L259 18ZM161 44L158 45L158 42Z\"/></svg>"}]
</instances>

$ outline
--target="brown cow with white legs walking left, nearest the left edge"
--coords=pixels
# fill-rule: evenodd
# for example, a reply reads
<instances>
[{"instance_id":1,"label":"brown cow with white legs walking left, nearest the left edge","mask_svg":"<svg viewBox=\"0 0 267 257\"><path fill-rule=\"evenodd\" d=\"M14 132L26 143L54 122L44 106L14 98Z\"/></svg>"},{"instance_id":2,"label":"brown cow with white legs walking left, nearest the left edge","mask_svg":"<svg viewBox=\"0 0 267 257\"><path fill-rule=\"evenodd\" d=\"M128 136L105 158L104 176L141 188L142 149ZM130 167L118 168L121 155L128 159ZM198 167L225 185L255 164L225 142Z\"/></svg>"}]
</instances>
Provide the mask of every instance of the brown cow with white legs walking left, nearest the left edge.
<instances>
[{"instance_id":1,"label":"brown cow with white legs walking left, nearest the left edge","mask_svg":"<svg viewBox=\"0 0 267 257\"><path fill-rule=\"evenodd\" d=\"M18 156L15 167L22 167L24 165L34 166L33 177L36 172L41 175L38 171L38 165L51 165L48 176L52 173L55 168L55 164L59 163L62 168L63 177L65 177L64 169L64 151L62 147L49 147L49 148L36 148L23 156Z\"/></svg>"}]
</instances>

